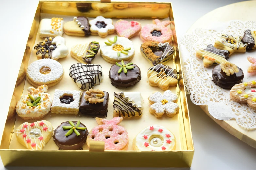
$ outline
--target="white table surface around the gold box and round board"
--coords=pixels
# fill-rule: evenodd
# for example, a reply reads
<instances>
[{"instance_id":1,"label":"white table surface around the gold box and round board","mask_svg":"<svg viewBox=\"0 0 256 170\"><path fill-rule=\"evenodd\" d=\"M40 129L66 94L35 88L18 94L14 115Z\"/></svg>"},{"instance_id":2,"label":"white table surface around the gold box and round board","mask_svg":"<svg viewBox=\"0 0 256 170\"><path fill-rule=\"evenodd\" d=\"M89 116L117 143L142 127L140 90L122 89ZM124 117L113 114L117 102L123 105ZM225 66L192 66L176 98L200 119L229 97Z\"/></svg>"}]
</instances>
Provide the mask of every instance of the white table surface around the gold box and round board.
<instances>
[{"instance_id":1,"label":"white table surface around the gold box and round board","mask_svg":"<svg viewBox=\"0 0 256 170\"><path fill-rule=\"evenodd\" d=\"M143 1L143 0L140 0ZM146 0L152 1L154 0ZM156 0L164 1L164 0ZM169 0L165 0L169 1ZM201 16L211 10L239 2L239 0L172 0L176 32L178 38L184 34L190 26ZM21 62L22 55L15 50L14 45L24 44L31 21L26 21L26 16L34 14L37 0L0 0L1 26L0 26L0 71L2 78L0 83L0 106L9 106L10 98ZM31 7L31 8L30 8ZM32 9L32 10L30 10ZM239 11L230 11L239 12ZM7 96L7 97L5 97ZM208 117L199 106L192 104L188 96L188 106L191 119L192 135L195 146L195 154L192 162L192 170L252 170L256 169L256 149L230 135ZM4 109L5 108L5 109ZM1 113L6 113L7 107L2 107ZM0 125L5 123L1 119ZM0 129L0 135L2 129ZM27 160L29 162L29 160ZM99 160L100 161L100 160ZM0 170L32 170L46 169L45 167L3 167L0 161ZM128 170L131 168L71 168L71 167L48 167L51 170ZM133 168L134 170L151 169L167 170L178 168ZM179 168L189 169L189 168Z\"/></svg>"}]
</instances>

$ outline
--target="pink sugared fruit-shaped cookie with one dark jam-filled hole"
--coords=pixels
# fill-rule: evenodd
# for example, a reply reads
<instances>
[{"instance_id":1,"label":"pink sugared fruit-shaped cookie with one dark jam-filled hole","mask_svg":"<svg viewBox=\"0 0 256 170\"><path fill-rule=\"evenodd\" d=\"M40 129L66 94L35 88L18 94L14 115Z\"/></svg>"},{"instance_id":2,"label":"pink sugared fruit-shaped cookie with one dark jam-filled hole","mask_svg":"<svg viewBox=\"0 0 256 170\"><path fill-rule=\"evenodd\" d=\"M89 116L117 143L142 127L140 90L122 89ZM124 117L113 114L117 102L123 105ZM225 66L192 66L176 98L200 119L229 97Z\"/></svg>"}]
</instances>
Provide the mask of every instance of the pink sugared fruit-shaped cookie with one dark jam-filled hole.
<instances>
[{"instance_id":1,"label":"pink sugared fruit-shaped cookie with one dark jam-filled hole","mask_svg":"<svg viewBox=\"0 0 256 170\"><path fill-rule=\"evenodd\" d=\"M155 42L169 42L172 44L172 30L167 26L171 24L171 21L160 21L159 19L153 20L153 24L146 24L141 29L140 38L143 42L155 41ZM153 31L160 31L160 36L153 36Z\"/></svg>"}]
</instances>

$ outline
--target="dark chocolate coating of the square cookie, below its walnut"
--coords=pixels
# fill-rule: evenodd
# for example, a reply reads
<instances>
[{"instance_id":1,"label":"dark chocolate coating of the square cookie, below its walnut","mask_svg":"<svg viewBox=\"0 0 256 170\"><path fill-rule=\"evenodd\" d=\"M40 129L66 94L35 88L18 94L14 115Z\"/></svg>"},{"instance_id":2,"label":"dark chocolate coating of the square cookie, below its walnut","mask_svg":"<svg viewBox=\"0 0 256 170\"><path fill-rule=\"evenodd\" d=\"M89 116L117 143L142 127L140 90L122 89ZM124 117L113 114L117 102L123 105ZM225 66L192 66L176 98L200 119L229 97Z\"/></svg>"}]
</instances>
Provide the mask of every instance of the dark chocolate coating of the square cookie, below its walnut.
<instances>
[{"instance_id":1,"label":"dark chocolate coating of the square cookie, below its walnut","mask_svg":"<svg viewBox=\"0 0 256 170\"><path fill-rule=\"evenodd\" d=\"M103 115L107 116L108 113L108 102L109 102L109 93L104 92L104 101L101 103L89 103L84 99L84 96L87 95L85 91L83 92L81 101L80 101L80 106L79 106L79 111L82 114L87 114L87 115Z\"/></svg>"}]
</instances>

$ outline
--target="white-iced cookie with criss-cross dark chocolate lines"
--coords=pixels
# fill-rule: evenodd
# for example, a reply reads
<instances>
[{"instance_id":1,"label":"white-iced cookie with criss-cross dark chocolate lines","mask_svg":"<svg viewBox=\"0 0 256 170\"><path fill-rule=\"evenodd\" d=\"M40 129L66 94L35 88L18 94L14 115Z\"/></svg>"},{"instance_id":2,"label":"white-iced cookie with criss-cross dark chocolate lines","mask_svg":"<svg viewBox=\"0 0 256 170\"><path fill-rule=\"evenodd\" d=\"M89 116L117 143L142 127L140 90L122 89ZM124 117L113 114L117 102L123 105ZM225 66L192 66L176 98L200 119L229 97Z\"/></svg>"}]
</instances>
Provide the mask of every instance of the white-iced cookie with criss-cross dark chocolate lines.
<instances>
[{"instance_id":1,"label":"white-iced cookie with criss-cross dark chocolate lines","mask_svg":"<svg viewBox=\"0 0 256 170\"><path fill-rule=\"evenodd\" d=\"M81 90L89 90L103 80L100 65L77 63L71 65L69 71L69 76Z\"/></svg>"}]
</instances>

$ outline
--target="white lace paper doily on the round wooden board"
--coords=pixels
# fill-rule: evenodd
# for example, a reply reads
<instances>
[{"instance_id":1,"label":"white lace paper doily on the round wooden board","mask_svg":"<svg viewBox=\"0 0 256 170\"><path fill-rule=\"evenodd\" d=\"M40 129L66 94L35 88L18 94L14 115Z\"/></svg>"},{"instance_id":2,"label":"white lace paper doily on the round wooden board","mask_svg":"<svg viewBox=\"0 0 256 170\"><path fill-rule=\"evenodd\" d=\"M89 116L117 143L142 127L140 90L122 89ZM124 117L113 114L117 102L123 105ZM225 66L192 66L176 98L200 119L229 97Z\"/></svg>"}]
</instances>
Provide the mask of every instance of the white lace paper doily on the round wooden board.
<instances>
[{"instance_id":1,"label":"white lace paper doily on the round wooden board","mask_svg":"<svg viewBox=\"0 0 256 170\"><path fill-rule=\"evenodd\" d=\"M235 119L237 124L248 129L256 129L256 112L247 104L240 104L230 99L230 91L222 89L212 82L213 67L204 68L203 61L196 57L196 51L213 44L222 33L243 36L246 29L255 30L255 21L230 21L222 30L214 31L197 28L191 34L185 34L179 41L182 53L184 82L186 93L196 105L208 105L209 113L219 120ZM244 81L255 80L254 75L247 73L251 65L247 56L256 57L256 51L234 53L228 61L236 64L244 71ZM242 60L241 60L242 59Z\"/></svg>"}]
</instances>

